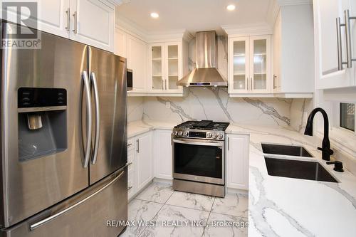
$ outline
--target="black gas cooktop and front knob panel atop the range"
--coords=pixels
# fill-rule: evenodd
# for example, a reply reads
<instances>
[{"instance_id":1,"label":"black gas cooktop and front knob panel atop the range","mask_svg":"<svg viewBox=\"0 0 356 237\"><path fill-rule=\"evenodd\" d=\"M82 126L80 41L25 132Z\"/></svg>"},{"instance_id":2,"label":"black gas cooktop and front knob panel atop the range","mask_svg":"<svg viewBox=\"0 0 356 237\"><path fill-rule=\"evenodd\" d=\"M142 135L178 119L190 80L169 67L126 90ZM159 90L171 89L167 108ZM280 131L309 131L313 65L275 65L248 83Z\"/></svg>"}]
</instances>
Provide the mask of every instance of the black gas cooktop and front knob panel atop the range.
<instances>
[{"instance_id":1,"label":"black gas cooktop and front knob panel atop the range","mask_svg":"<svg viewBox=\"0 0 356 237\"><path fill-rule=\"evenodd\" d=\"M177 138L224 140L229 122L212 120L187 121L174 127L172 136Z\"/></svg>"}]
</instances>

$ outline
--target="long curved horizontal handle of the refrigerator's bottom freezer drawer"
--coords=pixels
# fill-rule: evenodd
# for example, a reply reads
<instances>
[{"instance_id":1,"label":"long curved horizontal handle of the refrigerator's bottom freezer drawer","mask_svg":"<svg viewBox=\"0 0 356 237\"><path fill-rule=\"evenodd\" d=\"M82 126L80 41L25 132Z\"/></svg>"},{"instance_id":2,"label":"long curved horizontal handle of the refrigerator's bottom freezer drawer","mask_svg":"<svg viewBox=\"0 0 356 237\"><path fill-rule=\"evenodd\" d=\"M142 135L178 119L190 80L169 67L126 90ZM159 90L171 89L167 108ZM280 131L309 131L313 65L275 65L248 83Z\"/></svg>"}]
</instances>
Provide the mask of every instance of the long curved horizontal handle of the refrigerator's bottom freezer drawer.
<instances>
[{"instance_id":1,"label":"long curved horizontal handle of the refrigerator's bottom freezer drawer","mask_svg":"<svg viewBox=\"0 0 356 237\"><path fill-rule=\"evenodd\" d=\"M93 194L90 194L89 196L87 196L85 199L82 199L80 201L78 201L77 203L73 204L72 206L67 207L66 209L63 209L62 211L59 211L56 214L53 214L52 216L48 216L47 218L44 218L41 221L38 221L36 223L33 223L32 225L30 225L30 231L33 231L34 229L43 226L44 224L48 223L49 221L53 221L55 218L62 216L63 214L66 214L68 211L70 211L71 209L74 209L75 207L79 206L80 204L83 204L85 201L88 201L89 199L91 199L93 196L99 194L101 191L103 191L104 189L108 188L108 186L114 184L117 180L119 180L123 175L125 174L125 170L122 170L122 172L120 174L117 175L117 177L115 177L114 179L112 179L110 182L108 182L108 184L105 184L105 186L103 186L102 188L98 189L98 191L95 191Z\"/></svg>"}]
</instances>

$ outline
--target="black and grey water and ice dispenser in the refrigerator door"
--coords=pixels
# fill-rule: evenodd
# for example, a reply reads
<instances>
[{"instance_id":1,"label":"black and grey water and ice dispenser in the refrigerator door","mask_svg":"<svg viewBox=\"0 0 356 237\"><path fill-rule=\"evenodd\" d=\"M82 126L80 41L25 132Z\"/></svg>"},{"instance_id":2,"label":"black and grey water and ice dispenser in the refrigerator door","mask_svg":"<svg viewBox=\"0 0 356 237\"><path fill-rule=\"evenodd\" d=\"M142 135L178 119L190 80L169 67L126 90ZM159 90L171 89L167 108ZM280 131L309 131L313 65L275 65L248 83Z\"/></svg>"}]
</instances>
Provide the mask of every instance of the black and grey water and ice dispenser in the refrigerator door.
<instances>
[{"instance_id":1,"label":"black and grey water and ice dispenser in the refrigerator door","mask_svg":"<svg viewBox=\"0 0 356 237\"><path fill-rule=\"evenodd\" d=\"M67 92L62 88L19 88L19 159L67 149Z\"/></svg>"}]
</instances>

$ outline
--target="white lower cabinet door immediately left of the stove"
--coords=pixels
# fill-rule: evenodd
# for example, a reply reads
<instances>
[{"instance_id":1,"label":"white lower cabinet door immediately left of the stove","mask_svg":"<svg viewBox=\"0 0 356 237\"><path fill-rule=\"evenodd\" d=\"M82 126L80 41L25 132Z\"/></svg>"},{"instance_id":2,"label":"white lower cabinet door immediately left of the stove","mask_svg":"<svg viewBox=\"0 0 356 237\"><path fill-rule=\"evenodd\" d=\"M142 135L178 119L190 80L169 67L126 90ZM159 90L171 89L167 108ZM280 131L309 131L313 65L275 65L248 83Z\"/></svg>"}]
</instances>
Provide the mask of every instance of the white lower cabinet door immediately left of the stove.
<instances>
[{"instance_id":1,"label":"white lower cabinet door immediately left of the stove","mask_svg":"<svg viewBox=\"0 0 356 237\"><path fill-rule=\"evenodd\" d=\"M155 130L155 177L172 179L172 130Z\"/></svg>"}]
</instances>

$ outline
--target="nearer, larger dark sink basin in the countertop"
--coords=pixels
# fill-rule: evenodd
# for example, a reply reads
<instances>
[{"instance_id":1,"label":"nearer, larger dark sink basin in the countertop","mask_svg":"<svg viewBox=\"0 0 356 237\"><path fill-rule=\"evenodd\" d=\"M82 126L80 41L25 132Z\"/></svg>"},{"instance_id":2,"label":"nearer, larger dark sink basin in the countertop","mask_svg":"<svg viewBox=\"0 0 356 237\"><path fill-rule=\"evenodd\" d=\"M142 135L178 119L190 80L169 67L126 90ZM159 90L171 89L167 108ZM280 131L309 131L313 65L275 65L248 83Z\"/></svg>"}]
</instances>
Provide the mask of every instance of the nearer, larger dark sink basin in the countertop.
<instances>
[{"instance_id":1,"label":"nearer, larger dark sink basin in the countertop","mask_svg":"<svg viewBox=\"0 0 356 237\"><path fill-rule=\"evenodd\" d=\"M265 157L267 172L271 176L308 179L338 183L319 162Z\"/></svg>"}]
</instances>

